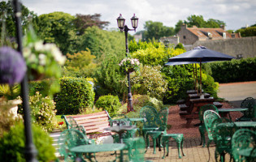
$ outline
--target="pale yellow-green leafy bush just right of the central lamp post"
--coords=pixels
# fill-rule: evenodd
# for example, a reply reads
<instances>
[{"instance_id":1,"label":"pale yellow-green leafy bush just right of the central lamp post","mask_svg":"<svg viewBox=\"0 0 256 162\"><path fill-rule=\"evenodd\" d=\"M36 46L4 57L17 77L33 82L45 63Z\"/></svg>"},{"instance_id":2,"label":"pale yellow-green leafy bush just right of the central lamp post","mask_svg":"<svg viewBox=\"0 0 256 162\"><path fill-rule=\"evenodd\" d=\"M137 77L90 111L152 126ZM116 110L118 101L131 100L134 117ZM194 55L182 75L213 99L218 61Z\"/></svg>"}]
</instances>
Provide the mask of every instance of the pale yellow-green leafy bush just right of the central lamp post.
<instances>
[{"instance_id":1,"label":"pale yellow-green leafy bush just right of the central lamp post","mask_svg":"<svg viewBox=\"0 0 256 162\"><path fill-rule=\"evenodd\" d=\"M141 74L131 75L132 94L148 95L163 100L167 82L161 75L161 66L143 66Z\"/></svg>"}]
</instances>

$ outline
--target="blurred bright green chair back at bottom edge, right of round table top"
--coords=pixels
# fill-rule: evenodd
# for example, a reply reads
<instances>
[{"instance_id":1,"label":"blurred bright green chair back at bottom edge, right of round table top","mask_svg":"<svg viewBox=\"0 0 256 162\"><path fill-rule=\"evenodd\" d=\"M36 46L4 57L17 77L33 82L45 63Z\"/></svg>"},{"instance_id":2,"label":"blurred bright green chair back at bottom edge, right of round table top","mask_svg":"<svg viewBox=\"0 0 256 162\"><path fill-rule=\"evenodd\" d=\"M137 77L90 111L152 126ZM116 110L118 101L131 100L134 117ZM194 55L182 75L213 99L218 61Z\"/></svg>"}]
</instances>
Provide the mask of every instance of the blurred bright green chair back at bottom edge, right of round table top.
<instances>
[{"instance_id":1,"label":"blurred bright green chair back at bottom edge, right of round table top","mask_svg":"<svg viewBox=\"0 0 256 162\"><path fill-rule=\"evenodd\" d=\"M128 148L128 160L132 162L144 161L145 140L141 137L124 139L124 143Z\"/></svg>"}]
</instances>

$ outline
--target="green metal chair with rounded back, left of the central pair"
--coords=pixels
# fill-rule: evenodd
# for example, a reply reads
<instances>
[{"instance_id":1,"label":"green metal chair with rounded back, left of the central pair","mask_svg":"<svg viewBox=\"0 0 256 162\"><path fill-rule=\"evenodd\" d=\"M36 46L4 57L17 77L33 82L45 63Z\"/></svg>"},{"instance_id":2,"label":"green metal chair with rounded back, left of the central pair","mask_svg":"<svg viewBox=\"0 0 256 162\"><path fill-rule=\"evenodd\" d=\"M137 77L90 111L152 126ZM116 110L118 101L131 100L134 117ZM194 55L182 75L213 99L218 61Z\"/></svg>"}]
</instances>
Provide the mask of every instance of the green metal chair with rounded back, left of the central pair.
<instances>
[{"instance_id":1,"label":"green metal chair with rounded back, left of the central pair","mask_svg":"<svg viewBox=\"0 0 256 162\"><path fill-rule=\"evenodd\" d=\"M140 117L144 118L142 135L146 139L145 135L148 131L158 130L158 112L152 106L144 106L140 110ZM148 140L146 140L148 142ZM147 146L150 146L150 143L147 143Z\"/></svg>"}]
</instances>

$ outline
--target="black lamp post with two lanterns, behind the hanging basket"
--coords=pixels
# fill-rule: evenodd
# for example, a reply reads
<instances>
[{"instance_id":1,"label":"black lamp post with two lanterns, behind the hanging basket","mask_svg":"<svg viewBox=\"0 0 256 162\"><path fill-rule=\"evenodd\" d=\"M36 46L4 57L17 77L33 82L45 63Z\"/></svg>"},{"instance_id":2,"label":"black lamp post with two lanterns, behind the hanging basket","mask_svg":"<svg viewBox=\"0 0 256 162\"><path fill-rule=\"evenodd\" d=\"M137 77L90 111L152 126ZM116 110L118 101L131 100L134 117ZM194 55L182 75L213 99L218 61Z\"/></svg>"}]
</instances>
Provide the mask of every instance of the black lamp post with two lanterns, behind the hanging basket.
<instances>
[{"instance_id":1,"label":"black lamp post with two lanterns, behind the hanging basket","mask_svg":"<svg viewBox=\"0 0 256 162\"><path fill-rule=\"evenodd\" d=\"M132 16L132 28L129 29L127 25L125 25L125 19L122 17L120 14L119 17L117 18L117 25L118 28L120 29L120 32L124 32L125 34L125 47L126 47L126 57L128 57L129 49L128 49L128 31L134 31L136 32L136 28L138 26L138 18L135 16L135 14ZM134 111L133 106L132 106L132 92L131 92L131 83L130 83L130 72L127 74L128 78L128 112Z\"/></svg>"}]
</instances>

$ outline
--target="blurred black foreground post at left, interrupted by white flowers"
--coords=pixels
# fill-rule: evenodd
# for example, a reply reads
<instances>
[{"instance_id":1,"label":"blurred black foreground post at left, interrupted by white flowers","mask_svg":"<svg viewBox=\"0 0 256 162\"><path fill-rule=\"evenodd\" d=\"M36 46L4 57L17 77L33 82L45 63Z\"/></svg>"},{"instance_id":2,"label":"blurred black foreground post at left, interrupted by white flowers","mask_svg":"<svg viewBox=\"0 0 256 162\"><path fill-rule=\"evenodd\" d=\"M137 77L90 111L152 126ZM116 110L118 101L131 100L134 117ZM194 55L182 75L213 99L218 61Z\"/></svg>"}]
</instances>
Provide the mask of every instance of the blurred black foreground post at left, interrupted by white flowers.
<instances>
[{"instance_id":1,"label":"blurred black foreground post at left, interrupted by white flowers","mask_svg":"<svg viewBox=\"0 0 256 162\"><path fill-rule=\"evenodd\" d=\"M16 37L18 43L18 51L22 54L22 32L21 32L21 10L19 0L14 0L14 11L15 11L15 25L16 25ZM27 162L37 162L37 149L33 144L32 126L30 118L30 109L28 104L28 76L25 75L21 82L21 97L23 100L24 107L24 133L25 133L25 149L24 155Z\"/></svg>"}]
</instances>

